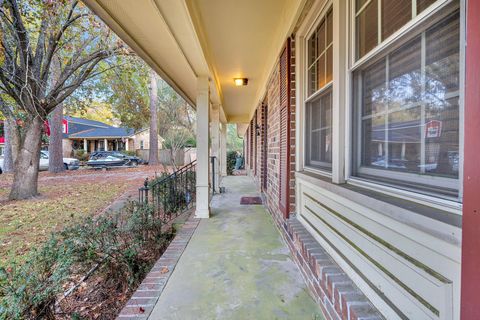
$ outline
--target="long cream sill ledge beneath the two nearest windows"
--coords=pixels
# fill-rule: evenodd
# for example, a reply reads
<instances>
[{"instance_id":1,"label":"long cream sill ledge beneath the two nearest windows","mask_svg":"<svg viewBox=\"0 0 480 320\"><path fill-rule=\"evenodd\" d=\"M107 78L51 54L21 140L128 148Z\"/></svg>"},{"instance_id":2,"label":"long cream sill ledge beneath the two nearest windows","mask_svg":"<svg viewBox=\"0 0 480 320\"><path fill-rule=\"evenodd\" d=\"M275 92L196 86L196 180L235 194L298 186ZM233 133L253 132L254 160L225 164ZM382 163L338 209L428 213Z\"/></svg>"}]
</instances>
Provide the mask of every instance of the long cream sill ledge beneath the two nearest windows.
<instances>
[{"instance_id":1,"label":"long cream sill ledge beneath the two nearest windows","mask_svg":"<svg viewBox=\"0 0 480 320\"><path fill-rule=\"evenodd\" d=\"M334 184L308 171L296 172L296 177L453 245L461 244L460 210L452 213L358 185Z\"/></svg>"}]
</instances>

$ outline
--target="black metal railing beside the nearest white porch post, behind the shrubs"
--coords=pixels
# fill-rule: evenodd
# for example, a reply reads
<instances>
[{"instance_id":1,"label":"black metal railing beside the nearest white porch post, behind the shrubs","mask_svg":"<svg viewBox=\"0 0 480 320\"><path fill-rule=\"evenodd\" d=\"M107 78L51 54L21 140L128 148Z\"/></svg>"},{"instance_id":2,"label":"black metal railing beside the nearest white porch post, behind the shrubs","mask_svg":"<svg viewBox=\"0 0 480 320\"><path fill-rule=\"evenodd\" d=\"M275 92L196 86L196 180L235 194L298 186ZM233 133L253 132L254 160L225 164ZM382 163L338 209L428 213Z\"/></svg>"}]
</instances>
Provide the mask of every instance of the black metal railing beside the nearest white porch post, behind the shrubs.
<instances>
[{"instance_id":1,"label":"black metal railing beside the nearest white porch post, behind the shrubs","mask_svg":"<svg viewBox=\"0 0 480 320\"><path fill-rule=\"evenodd\" d=\"M138 189L138 201L152 207L156 217L168 222L190 209L196 201L196 161L164 174L154 180L145 180Z\"/></svg>"}]
</instances>

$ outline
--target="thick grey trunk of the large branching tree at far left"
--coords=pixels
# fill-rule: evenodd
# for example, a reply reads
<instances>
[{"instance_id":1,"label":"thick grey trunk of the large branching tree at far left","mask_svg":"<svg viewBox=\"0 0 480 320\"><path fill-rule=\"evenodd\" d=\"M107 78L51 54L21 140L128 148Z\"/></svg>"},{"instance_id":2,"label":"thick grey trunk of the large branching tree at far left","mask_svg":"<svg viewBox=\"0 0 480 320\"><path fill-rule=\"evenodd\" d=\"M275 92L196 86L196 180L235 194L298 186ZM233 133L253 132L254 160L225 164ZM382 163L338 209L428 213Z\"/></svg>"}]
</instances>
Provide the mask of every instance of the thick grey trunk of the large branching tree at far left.
<instances>
[{"instance_id":1,"label":"thick grey trunk of the large branching tree at far left","mask_svg":"<svg viewBox=\"0 0 480 320\"><path fill-rule=\"evenodd\" d=\"M23 128L25 133L19 137L18 154L15 159L13 185L9 199L28 199L38 195L38 166L42 144L43 121L35 117ZM19 132L15 132L19 135Z\"/></svg>"}]
</instances>

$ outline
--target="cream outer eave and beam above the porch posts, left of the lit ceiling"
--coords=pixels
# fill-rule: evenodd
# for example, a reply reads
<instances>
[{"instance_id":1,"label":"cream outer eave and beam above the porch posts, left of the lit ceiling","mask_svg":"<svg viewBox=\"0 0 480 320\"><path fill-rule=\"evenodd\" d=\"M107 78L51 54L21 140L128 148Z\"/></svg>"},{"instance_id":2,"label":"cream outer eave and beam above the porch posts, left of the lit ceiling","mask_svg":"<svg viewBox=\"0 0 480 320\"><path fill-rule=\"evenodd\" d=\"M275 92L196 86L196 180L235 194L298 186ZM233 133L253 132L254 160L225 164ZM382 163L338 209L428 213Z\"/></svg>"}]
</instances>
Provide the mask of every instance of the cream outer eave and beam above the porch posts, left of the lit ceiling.
<instances>
[{"instance_id":1,"label":"cream outer eave and beam above the porch posts, left of the lit ceiling","mask_svg":"<svg viewBox=\"0 0 480 320\"><path fill-rule=\"evenodd\" d=\"M209 72L183 1L84 2L166 82L195 106L197 75L209 76ZM164 12L166 10L167 14ZM164 15L169 19L166 20ZM174 30L175 33L170 27L177 29Z\"/></svg>"}]
</instances>

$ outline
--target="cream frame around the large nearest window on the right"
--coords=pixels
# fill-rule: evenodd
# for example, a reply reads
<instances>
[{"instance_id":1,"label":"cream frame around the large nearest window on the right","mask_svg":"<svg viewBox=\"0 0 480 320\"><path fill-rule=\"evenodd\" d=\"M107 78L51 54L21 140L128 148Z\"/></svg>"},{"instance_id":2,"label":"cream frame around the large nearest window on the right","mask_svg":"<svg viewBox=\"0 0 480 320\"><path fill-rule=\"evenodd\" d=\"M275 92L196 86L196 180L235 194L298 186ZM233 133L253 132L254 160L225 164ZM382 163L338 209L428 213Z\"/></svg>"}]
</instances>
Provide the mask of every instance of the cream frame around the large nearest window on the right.
<instances>
[{"instance_id":1,"label":"cream frame around the large nearest window on the right","mask_svg":"<svg viewBox=\"0 0 480 320\"><path fill-rule=\"evenodd\" d=\"M372 1L372 0L371 0ZM429 205L429 206L440 206L442 210L448 209L451 212L461 214L462 208L462 195L463 195L463 153L464 153L464 75L465 75L465 3L464 0L459 1L459 5L445 12L444 14L440 14L435 16L440 10L445 8L447 5L451 5L453 0L438 0L436 3L432 4L430 7L422 11L419 15L417 15L414 19L410 20L406 25L402 28L394 32L390 35L387 39L373 48L370 52L365 54L362 58L355 60L356 58L356 30L355 30L355 0L350 1L350 50L349 50L349 74L350 74L350 84L349 84L349 96L350 102L348 104L348 129L346 132L347 134L347 150L349 155L345 157L345 164L347 168L346 172L346 180L347 183L351 183L352 185L356 185L359 187L365 187L367 189L381 191L383 193L387 193L390 195L395 195L400 198L404 198L406 200L414 200L416 202ZM441 21L442 19L446 18L448 15L452 14L454 10L460 11L460 39L459 39L459 93L458 93L458 104L459 104L459 170L458 170L458 179L446 178L446 177L439 177L439 176L425 176L420 177L420 175L415 173L404 173L404 172L394 172L382 169L369 169L363 168L362 170L364 173L368 173L369 170L375 170L378 172L379 170L385 176L388 174L392 179L405 180L405 177L411 178L412 176L419 176L417 181L414 183L423 183L428 185L432 188L435 186L429 182L434 181L440 184L447 184L447 188L451 186L455 186L455 189L458 190L457 196L449 196L441 193L419 193L418 189L415 188L408 188L401 185L401 183L396 183L393 181L392 183L385 183L380 182L375 179L369 179L365 177L359 177L355 175L356 172L359 172L358 166L358 153L361 152L361 135L359 134L361 131L361 126L358 125L359 118L357 112L361 112L361 110L355 109L356 99L358 97L355 95L354 92L354 77L353 74L355 71L358 71L360 68L365 68L369 65L373 65L374 63L378 62L379 59L385 57L384 54L386 51L392 53L408 41L412 40L413 38L417 37L421 34L420 30L426 30L428 27L433 26L435 23ZM428 27L423 27L424 24L427 24ZM420 29L420 30L419 30ZM422 47L422 50L424 48ZM388 55L388 54L387 54ZM357 129L359 131L355 132L354 130ZM355 137L355 138L354 138Z\"/></svg>"}]
</instances>

